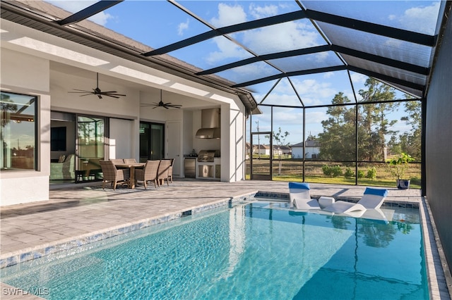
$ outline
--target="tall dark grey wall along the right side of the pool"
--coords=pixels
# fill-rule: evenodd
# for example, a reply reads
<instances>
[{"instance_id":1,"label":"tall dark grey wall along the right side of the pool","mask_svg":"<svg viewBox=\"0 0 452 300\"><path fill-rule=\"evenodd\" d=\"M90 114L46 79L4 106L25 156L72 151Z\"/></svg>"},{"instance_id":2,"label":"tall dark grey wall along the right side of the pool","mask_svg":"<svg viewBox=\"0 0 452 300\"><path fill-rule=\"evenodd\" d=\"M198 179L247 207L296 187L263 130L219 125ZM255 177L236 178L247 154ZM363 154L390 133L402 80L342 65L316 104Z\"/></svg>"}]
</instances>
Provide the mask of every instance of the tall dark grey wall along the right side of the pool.
<instances>
[{"instance_id":1,"label":"tall dark grey wall along the right side of the pool","mask_svg":"<svg viewBox=\"0 0 452 300\"><path fill-rule=\"evenodd\" d=\"M452 22L434 65L426 110L426 192L448 265L452 265Z\"/></svg>"}]
</instances>

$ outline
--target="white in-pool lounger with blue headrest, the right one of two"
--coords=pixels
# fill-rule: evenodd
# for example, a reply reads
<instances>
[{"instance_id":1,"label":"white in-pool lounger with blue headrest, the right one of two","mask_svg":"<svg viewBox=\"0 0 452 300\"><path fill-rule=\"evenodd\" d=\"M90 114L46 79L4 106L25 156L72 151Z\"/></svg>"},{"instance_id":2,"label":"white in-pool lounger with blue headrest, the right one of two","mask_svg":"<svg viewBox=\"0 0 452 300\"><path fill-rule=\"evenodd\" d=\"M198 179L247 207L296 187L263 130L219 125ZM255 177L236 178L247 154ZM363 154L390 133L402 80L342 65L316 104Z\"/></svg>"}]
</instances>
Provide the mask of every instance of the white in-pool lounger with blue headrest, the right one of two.
<instances>
[{"instance_id":1,"label":"white in-pool lounger with blue headrest, the right one of two","mask_svg":"<svg viewBox=\"0 0 452 300\"><path fill-rule=\"evenodd\" d=\"M367 211L367 209L377 209L383 204L384 199L388 195L387 189L374 189L367 187L364 191L364 196L357 202L335 201L333 204L323 208L323 211L330 211L332 213L346 213L354 216L359 216Z\"/></svg>"}]
</instances>

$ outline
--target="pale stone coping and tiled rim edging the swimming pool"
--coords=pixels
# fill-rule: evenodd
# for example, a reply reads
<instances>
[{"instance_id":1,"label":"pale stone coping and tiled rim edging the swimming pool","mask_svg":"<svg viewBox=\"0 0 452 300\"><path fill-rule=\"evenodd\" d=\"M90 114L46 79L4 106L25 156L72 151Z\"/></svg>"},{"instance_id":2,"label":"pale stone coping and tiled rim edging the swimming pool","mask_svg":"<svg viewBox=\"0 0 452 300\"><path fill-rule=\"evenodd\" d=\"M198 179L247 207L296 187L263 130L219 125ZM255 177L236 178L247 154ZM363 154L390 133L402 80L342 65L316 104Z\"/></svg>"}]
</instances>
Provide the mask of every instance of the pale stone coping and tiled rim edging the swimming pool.
<instances>
[{"instance_id":1,"label":"pale stone coping and tiled rim edging the swimming pool","mask_svg":"<svg viewBox=\"0 0 452 300\"><path fill-rule=\"evenodd\" d=\"M160 223L166 223L170 220L177 220L182 218L184 215L210 211L214 208L220 208L227 205L230 206L235 202L246 201L247 198L254 196L279 201L288 201L289 199L289 194L284 192L264 192L259 190L247 192L238 196L212 201L208 204L201 204L188 209L184 208L184 210L174 211L174 213L164 213L153 218L145 218L131 223L124 223L114 227L108 227L102 230L78 235L76 237L60 239L58 241L1 254L0 268L8 268L11 265L16 265L25 261L32 261L37 258L49 256L50 254L67 252L70 249L76 249L81 246L92 244L93 242L99 242L111 237L117 237L135 230L140 230ZM313 196L313 198L316 197ZM351 202L359 200L359 198L352 197L337 197L337 199ZM431 212L429 211L427 199L421 197L421 201L386 200L383 203L383 207L394 206L403 208L419 208L430 299L452 299L451 290L448 289L448 286L451 286L452 279L450 273L446 272L446 270L448 270L448 266L446 259L444 258L444 254L443 258L441 258L442 246L436 232L436 227L432 221L433 219L431 218Z\"/></svg>"}]
</instances>

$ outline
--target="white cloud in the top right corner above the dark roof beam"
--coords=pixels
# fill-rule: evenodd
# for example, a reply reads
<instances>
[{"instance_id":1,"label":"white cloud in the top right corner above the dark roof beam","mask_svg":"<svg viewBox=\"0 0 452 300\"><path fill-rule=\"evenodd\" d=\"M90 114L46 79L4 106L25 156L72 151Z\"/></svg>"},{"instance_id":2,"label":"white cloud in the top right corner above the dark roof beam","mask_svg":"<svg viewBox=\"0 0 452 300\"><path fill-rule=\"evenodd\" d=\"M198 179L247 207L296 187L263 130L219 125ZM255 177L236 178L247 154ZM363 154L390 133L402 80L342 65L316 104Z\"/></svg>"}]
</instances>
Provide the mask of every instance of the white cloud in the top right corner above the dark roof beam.
<instances>
[{"instance_id":1,"label":"white cloud in the top right corner above the dark roof beam","mask_svg":"<svg viewBox=\"0 0 452 300\"><path fill-rule=\"evenodd\" d=\"M430 6L419 6L407 9L405 13L400 16L400 24L403 24L408 30L434 35L440 2L441 1L433 2Z\"/></svg>"}]
</instances>

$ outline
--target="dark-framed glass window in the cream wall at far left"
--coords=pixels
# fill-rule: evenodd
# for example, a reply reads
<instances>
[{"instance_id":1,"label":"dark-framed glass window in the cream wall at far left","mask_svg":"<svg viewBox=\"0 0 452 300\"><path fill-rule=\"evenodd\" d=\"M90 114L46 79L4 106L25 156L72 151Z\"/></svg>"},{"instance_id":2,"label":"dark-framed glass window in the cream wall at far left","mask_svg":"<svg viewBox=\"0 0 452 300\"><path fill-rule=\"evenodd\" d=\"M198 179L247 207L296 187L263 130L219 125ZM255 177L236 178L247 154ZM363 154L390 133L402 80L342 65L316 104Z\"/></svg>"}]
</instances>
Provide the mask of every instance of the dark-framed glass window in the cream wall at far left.
<instances>
[{"instance_id":1,"label":"dark-framed glass window in the cream wall at far left","mask_svg":"<svg viewBox=\"0 0 452 300\"><path fill-rule=\"evenodd\" d=\"M36 96L1 92L0 169L36 170Z\"/></svg>"}]
</instances>

